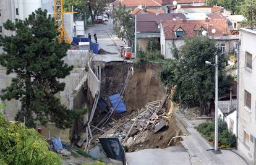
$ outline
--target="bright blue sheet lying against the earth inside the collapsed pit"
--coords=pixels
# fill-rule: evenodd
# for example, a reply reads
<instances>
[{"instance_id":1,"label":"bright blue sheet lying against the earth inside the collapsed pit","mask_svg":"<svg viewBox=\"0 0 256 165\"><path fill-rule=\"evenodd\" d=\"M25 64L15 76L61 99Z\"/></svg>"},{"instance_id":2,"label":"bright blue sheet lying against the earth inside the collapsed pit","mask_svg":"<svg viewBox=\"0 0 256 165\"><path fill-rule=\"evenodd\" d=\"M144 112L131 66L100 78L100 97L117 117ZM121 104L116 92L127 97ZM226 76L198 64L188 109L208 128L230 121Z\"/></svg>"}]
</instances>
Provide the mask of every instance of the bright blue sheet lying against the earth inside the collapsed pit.
<instances>
[{"instance_id":1,"label":"bright blue sheet lying against the earth inside the collapsed pit","mask_svg":"<svg viewBox=\"0 0 256 165\"><path fill-rule=\"evenodd\" d=\"M119 114L126 112L126 104L124 103L124 101L122 101L122 98L119 93L108 96L108 98L112 105L111 108L116 108L115 112Z\"/></svg>"}]
</instances>

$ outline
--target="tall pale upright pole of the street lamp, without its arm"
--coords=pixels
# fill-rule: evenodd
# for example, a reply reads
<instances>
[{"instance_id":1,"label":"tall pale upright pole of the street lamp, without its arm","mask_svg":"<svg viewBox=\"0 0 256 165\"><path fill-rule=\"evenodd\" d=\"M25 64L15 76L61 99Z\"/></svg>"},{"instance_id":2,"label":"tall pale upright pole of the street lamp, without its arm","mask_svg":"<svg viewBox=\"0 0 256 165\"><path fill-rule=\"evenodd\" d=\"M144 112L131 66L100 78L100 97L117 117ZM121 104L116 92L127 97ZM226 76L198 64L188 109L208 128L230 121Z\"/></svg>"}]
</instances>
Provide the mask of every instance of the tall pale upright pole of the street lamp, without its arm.
<instances>
[{"instance_id":1,"label":"tall pale upright pole of the street lamp, without its arm","mask_svg":"<svg viewBox=\"0 0 256 165\"><path fill-rule=\"evenodd\" d=\"M215 151L218 151L218 54L215 55Z\"/></svg>"}]
</instances>

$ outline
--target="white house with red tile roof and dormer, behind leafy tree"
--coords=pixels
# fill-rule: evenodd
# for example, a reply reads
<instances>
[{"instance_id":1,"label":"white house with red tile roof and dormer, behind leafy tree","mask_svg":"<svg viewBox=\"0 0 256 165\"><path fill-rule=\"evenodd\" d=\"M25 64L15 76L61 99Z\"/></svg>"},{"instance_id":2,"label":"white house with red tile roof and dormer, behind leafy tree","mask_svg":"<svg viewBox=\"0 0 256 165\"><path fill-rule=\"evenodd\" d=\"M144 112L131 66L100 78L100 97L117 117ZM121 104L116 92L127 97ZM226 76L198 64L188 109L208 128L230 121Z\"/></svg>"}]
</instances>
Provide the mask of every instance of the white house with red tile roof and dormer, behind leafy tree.
<instances>
[{"instance_id":1,"label":"white house with red tile roof and dormer, behind leafy tree","mask_svg":"<svg viewBox=\"0 0 256 165\"><path fill-rule=\"evenodd\" d=\"M234 42L238 35L231 35L226 19L220 14L190 13L185 14L187 19L166 20L161 22L161 54L165 59L172 59L171 49L180 49L185 39L202 36L203 31L207 36L216 41L216 46L223 54L233 51ZM212 30L215 29L215 33Z\"/></svg>"}]
</instances>

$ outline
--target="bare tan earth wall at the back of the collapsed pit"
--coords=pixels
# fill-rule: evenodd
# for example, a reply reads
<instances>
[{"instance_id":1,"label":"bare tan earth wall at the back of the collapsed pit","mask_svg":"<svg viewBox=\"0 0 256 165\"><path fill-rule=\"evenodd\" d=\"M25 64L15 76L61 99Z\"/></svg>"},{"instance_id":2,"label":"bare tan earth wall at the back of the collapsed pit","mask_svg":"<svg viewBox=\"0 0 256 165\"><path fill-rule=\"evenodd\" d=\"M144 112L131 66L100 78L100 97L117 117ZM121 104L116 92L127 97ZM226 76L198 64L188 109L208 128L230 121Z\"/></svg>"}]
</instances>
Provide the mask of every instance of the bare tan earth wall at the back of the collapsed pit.
<instances>
[{"instance_id":1,"label":"bare tan earth wall at the back of the collapsed pit","mask_svg":"<svg viewBox=\"0 0 256 165\"><path fill-rule=\"evenodd\" d=\"M158 78L158 64L134 64L134 75L129 81L124 99L127 109L137 111L150 101L163 99L164 88Z\"/></svg>"}]
</instances>

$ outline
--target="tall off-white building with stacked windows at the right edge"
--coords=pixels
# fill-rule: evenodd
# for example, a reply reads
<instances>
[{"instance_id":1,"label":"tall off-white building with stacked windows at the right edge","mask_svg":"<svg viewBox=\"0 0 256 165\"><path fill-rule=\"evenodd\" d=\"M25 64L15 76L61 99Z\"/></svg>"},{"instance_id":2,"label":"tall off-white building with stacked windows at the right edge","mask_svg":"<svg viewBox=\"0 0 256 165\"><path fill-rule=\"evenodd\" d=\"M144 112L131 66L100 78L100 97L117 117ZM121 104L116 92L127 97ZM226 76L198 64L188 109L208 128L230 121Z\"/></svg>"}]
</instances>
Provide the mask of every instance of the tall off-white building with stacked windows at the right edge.
<instances>
[{"instance_id":1,"label":"tall off-white building with stacked windows at the right edge","mask_svg":"<svg viewBox=\"0 0 256 165\"><path fill-rule=\"evenodd\" d=\"M237 150L256 162L256 31L240 28Z\"/></svg>"}]
</instances>

